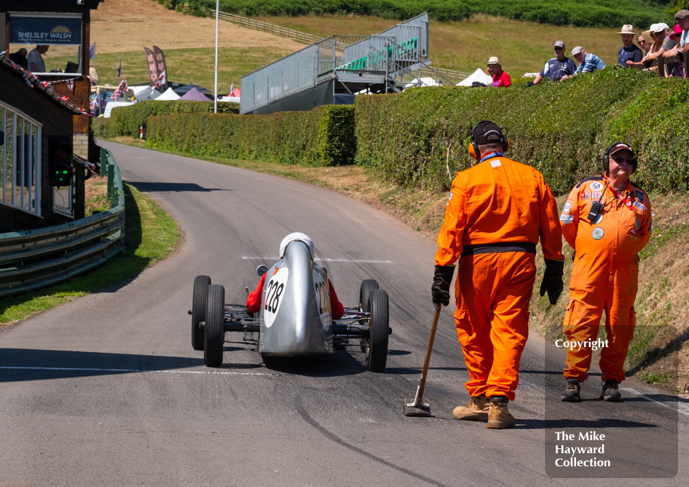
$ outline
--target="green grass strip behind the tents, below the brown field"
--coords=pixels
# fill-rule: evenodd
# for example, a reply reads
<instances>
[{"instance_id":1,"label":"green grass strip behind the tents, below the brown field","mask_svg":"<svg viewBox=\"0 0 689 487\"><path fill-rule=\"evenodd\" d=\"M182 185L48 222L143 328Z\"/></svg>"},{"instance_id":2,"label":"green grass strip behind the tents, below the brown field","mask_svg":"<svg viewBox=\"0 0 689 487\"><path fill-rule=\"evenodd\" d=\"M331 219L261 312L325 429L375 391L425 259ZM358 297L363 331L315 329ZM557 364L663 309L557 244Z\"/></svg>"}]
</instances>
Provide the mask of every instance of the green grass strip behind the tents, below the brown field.
<instances>
[{"instance_id":1,"label":"green grass strip behind the tents, below the brown field","mask_svg":"<svg viewBox=\"0 0 689 487\"><path fill-rule=\"evenodd\" d=\"M291 51L273 48L220 48L218 49L218 93L227 94L232 83L238 87L242 76L263 65L280 59ZM122 57L121 77L117 66ZM64 68L69 56L46 56L46 69ZM149 83L146 57L141 51L107 52L98 54L98 82L101 85L118 85L126 78L129 85ZM167 79L175 83L194 83L213 91L215 50L213 48L165 50Z\"/></svg>"}]
</instances>

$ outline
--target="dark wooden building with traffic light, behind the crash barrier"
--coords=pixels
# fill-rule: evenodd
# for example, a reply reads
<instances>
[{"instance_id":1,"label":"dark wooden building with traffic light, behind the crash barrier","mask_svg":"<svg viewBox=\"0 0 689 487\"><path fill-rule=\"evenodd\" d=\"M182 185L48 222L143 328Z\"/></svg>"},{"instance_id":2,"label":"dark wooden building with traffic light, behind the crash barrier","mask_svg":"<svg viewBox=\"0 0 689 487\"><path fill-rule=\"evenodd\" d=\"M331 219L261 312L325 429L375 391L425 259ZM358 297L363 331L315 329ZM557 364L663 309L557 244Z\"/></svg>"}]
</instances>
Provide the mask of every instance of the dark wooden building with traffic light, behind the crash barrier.
<instances>
[{"instance_id":1,"label":"dark wooden building with traffic light, behind the crash barrier","mask_svg":"<svg viewBox=\"0 0 689 487\"><path fill-rule=\"evenodd\" d=\"M83 218L85 169L74 165L71 184L55 186L48 165L67 149L88 160L89 117L75 106L89 109L90 10L102 1L0 1L0 233ZM50 61L70 61L46 68L39 54L49 48L60 54Z\"/></svg>"}]
</instances>

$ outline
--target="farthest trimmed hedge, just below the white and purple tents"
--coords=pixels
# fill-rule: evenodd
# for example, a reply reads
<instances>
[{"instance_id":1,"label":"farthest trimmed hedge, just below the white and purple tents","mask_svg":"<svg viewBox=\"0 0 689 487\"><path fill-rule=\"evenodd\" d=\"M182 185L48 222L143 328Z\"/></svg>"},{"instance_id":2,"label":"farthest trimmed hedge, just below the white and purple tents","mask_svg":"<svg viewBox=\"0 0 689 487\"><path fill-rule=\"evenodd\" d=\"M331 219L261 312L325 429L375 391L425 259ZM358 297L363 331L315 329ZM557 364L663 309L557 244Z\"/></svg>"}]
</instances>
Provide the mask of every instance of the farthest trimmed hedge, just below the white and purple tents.
<instances>
[{"instance_id":1,"label":"farthest trimmed hedge, just below the white and purple tents","mask_svg":"<svg viewBox=\"0 0 689 487\"><path fill-rule=\"evenodd\" d=\"M148 117L176 113L213 113L212 101L155 101L147 100L125 107L116 107L110 114L108 136L138 137L139 127L147 125ZM238 114L239 103L218 102L218 113Z\"/></svg>"}]
</instances>

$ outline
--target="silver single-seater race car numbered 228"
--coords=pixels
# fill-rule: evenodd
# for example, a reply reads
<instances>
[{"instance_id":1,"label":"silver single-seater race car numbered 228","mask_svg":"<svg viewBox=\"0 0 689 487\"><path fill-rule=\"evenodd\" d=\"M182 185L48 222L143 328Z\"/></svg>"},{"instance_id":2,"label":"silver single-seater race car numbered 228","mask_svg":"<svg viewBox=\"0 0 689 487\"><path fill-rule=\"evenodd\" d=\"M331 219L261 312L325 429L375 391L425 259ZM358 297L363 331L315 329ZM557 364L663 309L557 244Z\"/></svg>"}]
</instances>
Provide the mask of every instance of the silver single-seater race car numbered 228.
<instances>
[{"instance_id":1,"label":"silver single-seater race car numbered 228","mask_svg":"<svg viewBox=\"0 0 689 487\"><path fill-rule=\"evenodd\" d=\"M359 303L345 307L342 318L333 320L327 271L313 262L304 242L291 242L282 260L256 269L258 277L265 273L256 316L244 304L225 304L225 287L211 284L208 276L194 279L189 311L192 347L203 350L206 366L223 364L225 332L238 331L244 333L243 342L258 344L258 353L264 357L329 355L357 346L369 371L383 371L392 329L387 293L378 289L375 280L362 281Z\"/></svg>"}]
</instances>

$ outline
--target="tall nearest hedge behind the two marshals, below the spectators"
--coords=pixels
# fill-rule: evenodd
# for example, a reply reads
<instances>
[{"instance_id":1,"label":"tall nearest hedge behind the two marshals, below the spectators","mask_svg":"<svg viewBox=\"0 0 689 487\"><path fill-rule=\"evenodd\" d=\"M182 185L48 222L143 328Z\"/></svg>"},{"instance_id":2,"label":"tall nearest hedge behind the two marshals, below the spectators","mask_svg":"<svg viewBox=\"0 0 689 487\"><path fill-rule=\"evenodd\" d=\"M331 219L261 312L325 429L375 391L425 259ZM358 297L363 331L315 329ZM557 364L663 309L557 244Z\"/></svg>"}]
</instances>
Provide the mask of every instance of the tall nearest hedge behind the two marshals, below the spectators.
<instances>
[{"instance_id":1,"label":"tall nearest hedge behind the two marshals, below the spectators","mask_svg":"<svg viewBox=\"0 0 689 487\"><path fill-rule=\"evenodd\" d=\"M615 141L637 150L633 180L648 190L689 185L689 83L607 68L563 83L416 88L356 98L356 163L404 186L442 190L470 167L469 134L483 119L508 127L508 155L533 165L558 194L601 172ZM449 152L449 155L448 155Z\"/></svg>"}]
</instances>

